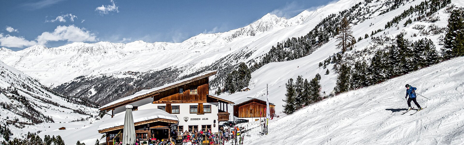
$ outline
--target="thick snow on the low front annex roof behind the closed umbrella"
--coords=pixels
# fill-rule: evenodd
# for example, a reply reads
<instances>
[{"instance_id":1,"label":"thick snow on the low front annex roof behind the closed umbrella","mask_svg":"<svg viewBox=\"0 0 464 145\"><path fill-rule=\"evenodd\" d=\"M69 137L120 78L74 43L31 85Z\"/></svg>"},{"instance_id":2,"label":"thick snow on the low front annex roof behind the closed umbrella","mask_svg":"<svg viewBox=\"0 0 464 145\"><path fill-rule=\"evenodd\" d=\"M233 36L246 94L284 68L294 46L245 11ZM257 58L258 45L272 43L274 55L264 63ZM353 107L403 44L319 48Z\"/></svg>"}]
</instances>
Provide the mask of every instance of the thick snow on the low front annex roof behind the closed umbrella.
<instances>
[{"instance_id":1,"label":"thick snow on the low front annex roof behind the closed umbrella","mask_svg":"<svg viewBox=\"0 0 464 145\"><path fill-rule=\"evenodd\" d=\"M151 119L157 119L157 118L179 121L177 116L173 114L169 114L168 112L165 112L161 109L137 110L137 111L132 112L132 116L134 118L134 123L140 122L140 121L151 120ZM108 129L108 128L113 128L116 126L124 125L124 117L125 117L125 114L121 114L121 115L115 116L114 118L102 121L102 124L98 126L98 130L100 131L103 129Z\"/></svg>"}]
</instances>

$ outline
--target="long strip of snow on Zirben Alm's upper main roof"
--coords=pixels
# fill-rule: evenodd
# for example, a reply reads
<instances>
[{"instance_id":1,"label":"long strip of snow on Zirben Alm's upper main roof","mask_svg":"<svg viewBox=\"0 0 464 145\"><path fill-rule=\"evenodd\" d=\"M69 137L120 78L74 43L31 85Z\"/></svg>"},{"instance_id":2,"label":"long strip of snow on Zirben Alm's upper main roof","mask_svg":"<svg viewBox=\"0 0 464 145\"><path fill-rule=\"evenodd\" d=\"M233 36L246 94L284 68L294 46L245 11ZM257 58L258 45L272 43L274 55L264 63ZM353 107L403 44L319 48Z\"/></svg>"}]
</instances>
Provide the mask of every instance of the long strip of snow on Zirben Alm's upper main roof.
<instances>
[{"instance_id":1,"label":"long strip of snow on Zirben Alm's upper main roof","mask_svg":"<svg viewBox=\"0 0 464 145\"><path fill-rule=\"evenodd\" d=\"M159 86L159 87L155 87L155 88L152 88L152 89L148 89L148 90L142 90L142 91L139 91L139 92L135 92L133 95L130 95L130 96L127 96L127 97L124 97L124 98L121 98L121 99L117 99L113 102L110 102L106 105L103 105L101 106L100 108L98 109L102 109L104 107L108 107L110 105L115 105L116 103L119 103L119 102L122 102L122 101L127 101L127 100L130 100L130 99L134 99L135 97L138 97L138 96L142 96L142 95L145 95L145 94L148 94L150 92L154 92L154 91L157 91L157 90L160 90L160 89L163 89L165 87L168 87L168 86L173 86L175 84L179 84L179 83L182 83L182 82L185 82L185 81L189 81L189 80L192 80L194 78L197 78L197 77L200 77L200 76L204 76L208 73L211 73L211 72L216 72L215 70L214 71L205 71L205 72L202 72L198 75L195 75L193 77L190 77L190 78L187 78L187 79L181 79L179 81L176 81L176 82L173 82L173 83L169 83L169 84L166 84L166 85L163 85L163 86Z\"/></svg>"}]
</instances>

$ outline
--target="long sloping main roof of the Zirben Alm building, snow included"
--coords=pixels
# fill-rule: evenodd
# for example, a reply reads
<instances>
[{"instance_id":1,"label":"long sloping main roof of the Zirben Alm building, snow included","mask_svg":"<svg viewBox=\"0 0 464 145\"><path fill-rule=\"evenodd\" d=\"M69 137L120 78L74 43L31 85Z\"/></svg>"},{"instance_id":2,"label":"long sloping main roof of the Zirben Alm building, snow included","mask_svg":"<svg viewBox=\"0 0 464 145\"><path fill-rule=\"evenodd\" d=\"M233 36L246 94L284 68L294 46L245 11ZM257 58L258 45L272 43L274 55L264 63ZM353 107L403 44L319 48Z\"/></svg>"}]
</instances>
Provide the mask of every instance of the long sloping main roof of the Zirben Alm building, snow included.
<instances>
[{"instance_id":1,"label":"long sloping main roof of the Zirben Alm building, snow included","mask_svg":"<svg viewBox=\"0 0 464 145\"><path fill-rule=\"evenodd\" d=\"M188 84L190 82L200 80L200 79L203 79L203 78L206 78L206 77L213 76L216 73L217 73L217 71L206 71L206 72L202 72L202 73L200 73L198 75L195 75L195 76L187 78L187 79L182 79L182 80L179 80L179 81L176 81L176 82L173 82L173 83L169 83L169 84L166 84L166 85L163 85L163 86L155 87L155 88L152 88L152 89L135 92L133 95L130 95L130 96L127 96L127 97L124 97L124 98L121 98L121 99L117 99L117 100L115 100L113 102L110 102L110 103L108 103L106 105L101 106L98 109L99 110L108 110L108 109L112 109L112 108L116 108L116 107L119 107L119 106L122 106L122 105L129 104L129 103L133 103L133 102L136 102L138 100L148 98L148 97L150 97L152 95L155 95L155 94L157 94L159 92L166 91L166 90L169 90L169 89L177 87L177 86L182 86L182 85L185 85L185 84Z\"/></svg>"}]
</instances>

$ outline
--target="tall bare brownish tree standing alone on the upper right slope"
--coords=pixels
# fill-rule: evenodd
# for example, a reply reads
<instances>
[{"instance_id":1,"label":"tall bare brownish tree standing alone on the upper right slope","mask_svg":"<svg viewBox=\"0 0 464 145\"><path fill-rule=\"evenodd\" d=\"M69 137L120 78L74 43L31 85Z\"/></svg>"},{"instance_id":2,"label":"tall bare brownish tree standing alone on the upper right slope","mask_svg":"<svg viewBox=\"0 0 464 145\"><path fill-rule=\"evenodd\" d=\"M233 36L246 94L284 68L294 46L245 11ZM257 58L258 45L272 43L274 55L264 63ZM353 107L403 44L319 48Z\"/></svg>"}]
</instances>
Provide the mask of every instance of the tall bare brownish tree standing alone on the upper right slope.
<instances>
[{"instance_id":1,"label":"tall bare brownish tree standing alone on the upper right slope","mask_svg":"<svg viewBox=\"0 0 464 145\"><path fill-rule=\"evenodd\" d=\"M356 43L355 38L353 37L353 32L351 31L351 26L348 23L346 17L343 18L342 24L340 25L340 31L336 36L338 44L336 45L338 49L342 49L342 53L346 52L348 47Z\"/></svg>"}]
</instances>

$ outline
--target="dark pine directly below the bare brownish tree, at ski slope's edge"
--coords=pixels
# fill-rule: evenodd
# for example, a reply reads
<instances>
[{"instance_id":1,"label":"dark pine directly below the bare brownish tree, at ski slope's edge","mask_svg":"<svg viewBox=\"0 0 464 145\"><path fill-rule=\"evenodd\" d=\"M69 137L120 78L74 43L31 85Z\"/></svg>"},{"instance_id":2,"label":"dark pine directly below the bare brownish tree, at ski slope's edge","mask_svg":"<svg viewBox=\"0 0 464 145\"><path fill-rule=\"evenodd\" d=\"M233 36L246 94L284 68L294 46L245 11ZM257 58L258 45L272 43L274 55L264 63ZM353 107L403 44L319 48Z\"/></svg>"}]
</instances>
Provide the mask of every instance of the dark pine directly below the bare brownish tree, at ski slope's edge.
<instances>
[{"instance_id":1,"label":"dark pine directly below the bare brownish tree, at ski slope's edge","mask_svg":"<svg viewBox=\"0 0 464 145\"><path fill-rule=\"evenodd\" d=\"M350 87L350 66L347 65L342 65L340 66L340 70L338 73L337 81L336 81L336 86L334 88L335 93L342 93L342 92L347 92Z\"/></svg>"}]
</instances>

